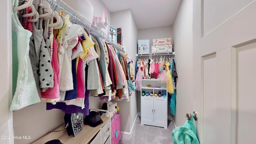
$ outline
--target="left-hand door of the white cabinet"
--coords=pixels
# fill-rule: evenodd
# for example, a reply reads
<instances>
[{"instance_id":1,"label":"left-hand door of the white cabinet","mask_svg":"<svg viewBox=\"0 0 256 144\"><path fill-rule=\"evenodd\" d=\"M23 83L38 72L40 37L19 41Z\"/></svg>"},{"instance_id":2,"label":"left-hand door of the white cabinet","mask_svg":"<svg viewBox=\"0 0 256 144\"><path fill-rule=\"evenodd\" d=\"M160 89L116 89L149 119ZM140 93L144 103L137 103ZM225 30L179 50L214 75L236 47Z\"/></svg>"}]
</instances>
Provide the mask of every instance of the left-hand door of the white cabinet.
<instances>
[{"instance_id":1,"label":"left-hand door of the white cabinet","mask_svg":"<svg viewBox=\"0 0 256 144\"><path fill-rule=\"evenodd\" d=\"M141 102L141 121L142 122L153 122L153 108L154 100L153 98L142 96Z\"/></svg>"}]
</instances>

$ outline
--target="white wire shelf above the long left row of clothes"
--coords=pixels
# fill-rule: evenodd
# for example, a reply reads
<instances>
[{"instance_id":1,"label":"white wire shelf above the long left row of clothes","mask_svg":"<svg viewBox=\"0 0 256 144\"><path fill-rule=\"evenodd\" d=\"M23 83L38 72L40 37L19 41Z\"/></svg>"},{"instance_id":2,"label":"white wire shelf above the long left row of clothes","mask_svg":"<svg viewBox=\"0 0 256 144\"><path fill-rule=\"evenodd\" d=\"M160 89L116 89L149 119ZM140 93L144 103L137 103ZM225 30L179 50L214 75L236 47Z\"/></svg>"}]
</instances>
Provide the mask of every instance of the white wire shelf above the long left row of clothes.
<instances>
[{"instance_id":1,"label":"white wire shelf above the long left row of clothes","mask_svg":"<svg viewBox=\"0 0 256 144\"><path fill-rule=\"evenodd\" d=\"M51 9L53 11L64 10L66 15L69 14L70 22L73 22L73 23L83 26L86 30L99 36L101 39L106 41L108 44L111 44L112 46L114 46L114 48L116 48L117 50L119 50L121 52L125 52L124 47L122 47L120 44L114 42L112 40L112 38L107 36L104 32L102 32L99 28L94 26L92 23L88 22L88 20L86 20L83 16L81 16L78 12L76 12L73 8L68 6L62 0L56 0L56 2L54 0L46 0L46 1L49 2L49 4L51 5ZM94 26L96 29L92 28L92 26Z\"/></svg>"}]
</instances>

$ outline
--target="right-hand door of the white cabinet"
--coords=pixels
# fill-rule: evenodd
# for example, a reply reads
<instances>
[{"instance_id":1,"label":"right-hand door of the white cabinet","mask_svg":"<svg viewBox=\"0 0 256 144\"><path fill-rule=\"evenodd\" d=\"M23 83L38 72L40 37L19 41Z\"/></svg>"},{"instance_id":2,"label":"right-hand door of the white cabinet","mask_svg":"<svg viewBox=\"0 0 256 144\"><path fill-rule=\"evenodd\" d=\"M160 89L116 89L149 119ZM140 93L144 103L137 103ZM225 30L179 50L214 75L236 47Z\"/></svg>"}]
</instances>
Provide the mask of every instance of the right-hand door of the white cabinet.
<instances>
[{"instance_id":1,"label":"right-hand door of the white cabinet","mask_svg":"<svg viewBox=\"0 0 256 144\"><path fill-rule=\"evenodd\" d=\"M154 98L154 123L167 124L167 98Z\"/></svg>"}]
</instances>

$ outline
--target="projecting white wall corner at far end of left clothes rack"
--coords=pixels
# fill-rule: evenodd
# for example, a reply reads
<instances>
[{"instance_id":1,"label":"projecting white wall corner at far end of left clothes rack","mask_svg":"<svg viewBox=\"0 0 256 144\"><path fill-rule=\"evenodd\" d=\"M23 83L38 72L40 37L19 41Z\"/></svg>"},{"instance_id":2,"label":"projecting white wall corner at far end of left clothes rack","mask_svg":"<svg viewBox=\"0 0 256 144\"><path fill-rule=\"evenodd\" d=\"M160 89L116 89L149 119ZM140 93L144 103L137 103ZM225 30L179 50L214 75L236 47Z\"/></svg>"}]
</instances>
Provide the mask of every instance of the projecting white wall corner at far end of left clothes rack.
<instances>
[{"instance_id":1,"label":"projecting white wall corner at far end of left clothes rack","mask_svg":"<svg viewBox=\"0 0 256 144\"><path fill-rule=\"evenodd\" d=\"M135 68L135 50L137 48L138 28L135 24L131 10L112 12L110 25L114 28L122 28L123 46L128 56L134 60L133 66ZM120 107L121 131L130 133L132 124L134 123L135 117L138 113L135 92L132 92L130 102L118 102L118 106Z\"/></svg>"}]
</instances>

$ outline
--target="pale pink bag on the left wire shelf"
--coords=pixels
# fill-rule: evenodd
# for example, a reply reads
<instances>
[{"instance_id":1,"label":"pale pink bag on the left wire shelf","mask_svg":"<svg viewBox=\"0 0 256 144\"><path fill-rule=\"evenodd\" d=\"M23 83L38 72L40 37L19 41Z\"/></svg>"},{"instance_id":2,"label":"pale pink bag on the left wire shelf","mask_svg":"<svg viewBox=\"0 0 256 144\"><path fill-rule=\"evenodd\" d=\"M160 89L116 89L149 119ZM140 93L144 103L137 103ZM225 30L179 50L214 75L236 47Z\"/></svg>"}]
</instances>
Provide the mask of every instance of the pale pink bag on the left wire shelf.
<instances>
[{"instance_id":1,"label":"pale pink bag on the left wire shelf","mask_svg":"<svg viewBox=\"0 0 256 144\"><path fill-rule=\"evenodd\" d=\"M109 36L109 25L108 25L108 11L106 8L103 9L102 17L94 17L92 18L93 28L97 30L100 29L104 34Z\"/></svg>"}]
</instances>

